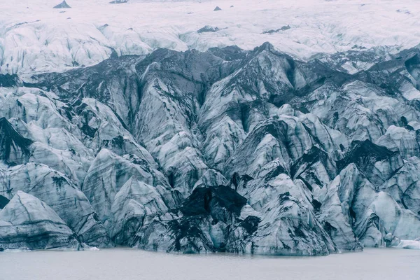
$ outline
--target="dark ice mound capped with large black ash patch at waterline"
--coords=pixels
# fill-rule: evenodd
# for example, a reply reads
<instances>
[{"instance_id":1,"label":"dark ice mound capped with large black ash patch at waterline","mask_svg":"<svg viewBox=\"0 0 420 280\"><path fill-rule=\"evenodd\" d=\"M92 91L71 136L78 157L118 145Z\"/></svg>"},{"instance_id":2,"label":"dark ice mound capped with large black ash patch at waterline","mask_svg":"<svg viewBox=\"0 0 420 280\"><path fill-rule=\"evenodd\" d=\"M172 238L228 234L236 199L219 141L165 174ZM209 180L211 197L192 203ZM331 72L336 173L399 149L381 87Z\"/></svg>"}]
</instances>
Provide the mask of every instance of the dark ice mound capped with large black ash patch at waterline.
<instances>
[{"instance_id":1,"label":"dark ice mound capped with large black ash patch at waterline","mask_svg":"<svg viewBox=\"0 0 420 280\"><path fill-rule=\"evenodd\" d=\"M235 229L246 227L239 218L245 204L244 197L226 186L196 188L177 213L169 212L145 225L137 233L135 246L183 253L243 252L244 248L230 242L239 241Z\"/></svg>"}]
</instances>

